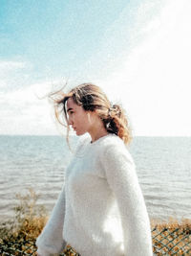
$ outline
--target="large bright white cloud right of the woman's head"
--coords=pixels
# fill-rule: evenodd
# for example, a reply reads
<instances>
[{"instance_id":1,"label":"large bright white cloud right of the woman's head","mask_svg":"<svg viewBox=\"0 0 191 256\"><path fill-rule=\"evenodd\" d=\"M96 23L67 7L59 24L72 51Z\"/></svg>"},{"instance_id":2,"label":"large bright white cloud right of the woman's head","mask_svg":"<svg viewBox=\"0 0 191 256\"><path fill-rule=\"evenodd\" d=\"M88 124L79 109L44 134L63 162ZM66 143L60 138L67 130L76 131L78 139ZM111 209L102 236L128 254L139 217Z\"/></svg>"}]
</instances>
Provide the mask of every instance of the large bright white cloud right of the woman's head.
<instances>
[{"instance_id":1,"label":"large bright white cloud right of the woman's head","mask_svg":"<svg viewBox=\"0 0 191 256\"><path fill-rule=\"evenodd\" d=\"M166 3L148 23L147 36L101 81L130 112L136 134L191 135L191 2Z\"/></svg>"}]
</instances>

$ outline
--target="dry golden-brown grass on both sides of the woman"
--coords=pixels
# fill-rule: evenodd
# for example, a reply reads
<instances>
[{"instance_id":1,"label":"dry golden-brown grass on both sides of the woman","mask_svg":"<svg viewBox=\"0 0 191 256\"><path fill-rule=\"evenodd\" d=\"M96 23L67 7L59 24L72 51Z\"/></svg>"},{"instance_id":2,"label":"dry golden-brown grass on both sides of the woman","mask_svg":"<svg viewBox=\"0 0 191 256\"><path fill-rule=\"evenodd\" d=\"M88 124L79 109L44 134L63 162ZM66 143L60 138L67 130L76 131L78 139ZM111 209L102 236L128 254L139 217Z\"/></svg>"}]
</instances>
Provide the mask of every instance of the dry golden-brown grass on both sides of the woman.
<instances>
[{"instance_id":1,"label":"dry golden-brown grass on both sides of the woman","mask_svg":"<svg viewBox=\"0 0 191 256\"><path fill-rule=\"evenodd\" d=\"M25 251L32 253L36 250L35 239L48 221L48 215L45 208L36 205L39 197L32 189L27 195L16 195L16 198L18 198L18 205L14 208L13 221L0 225L0 252L21 255L15 250L19 248L24 251L28 245L26 243L31 241L33 245ZM191 220L178 221L170 218L166 222L151 221L151 227L155 255L191 255ZM35 252L30 255L35 255Z\"/></svg>"}]
</instances>

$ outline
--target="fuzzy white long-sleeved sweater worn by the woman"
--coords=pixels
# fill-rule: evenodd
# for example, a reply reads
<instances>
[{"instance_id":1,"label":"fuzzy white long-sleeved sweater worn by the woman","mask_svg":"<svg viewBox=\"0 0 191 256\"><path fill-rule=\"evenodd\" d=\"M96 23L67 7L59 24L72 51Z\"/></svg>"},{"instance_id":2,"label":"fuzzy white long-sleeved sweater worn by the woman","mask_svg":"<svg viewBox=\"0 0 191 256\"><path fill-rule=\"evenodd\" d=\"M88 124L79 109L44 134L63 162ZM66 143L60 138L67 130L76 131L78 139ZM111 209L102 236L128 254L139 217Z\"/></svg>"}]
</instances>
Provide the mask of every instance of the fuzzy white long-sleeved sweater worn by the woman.
<instances>
[{"instance_id":1,"label":"fuzzy white long-sleeved sweater worn by the woman","mask_svg":"<svg viewBox=\"0 0 191 256\"><path fill-rule=\"evenodd\" d=\"M150 256L150 221L135 164L123 141L108 134L91 144L82 136L65 185L38 237L50 256L66 242L81 256Z\"/></svg>"}]
</instances>

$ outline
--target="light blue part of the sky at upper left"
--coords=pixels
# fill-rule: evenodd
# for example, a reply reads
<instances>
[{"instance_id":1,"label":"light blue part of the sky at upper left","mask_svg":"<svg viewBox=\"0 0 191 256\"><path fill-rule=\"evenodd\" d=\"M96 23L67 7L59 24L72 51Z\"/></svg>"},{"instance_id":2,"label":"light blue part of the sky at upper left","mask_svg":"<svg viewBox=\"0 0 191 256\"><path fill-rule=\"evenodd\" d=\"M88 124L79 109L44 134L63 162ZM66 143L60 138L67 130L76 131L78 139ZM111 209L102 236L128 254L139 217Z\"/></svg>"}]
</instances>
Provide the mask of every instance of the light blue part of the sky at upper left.
<instances>
[{"instance_id":1,"label":"light blue part of the sky at upper left","mask_svg":"<svg viewBox=\"0 0 191 256\"><path fill-rule=\"evenodd\" d=\"M76 76L127 3L2 1L1 57L29 61L37 78L49 76L50 70L53 76Z\"/></svg>"}]
</instances>

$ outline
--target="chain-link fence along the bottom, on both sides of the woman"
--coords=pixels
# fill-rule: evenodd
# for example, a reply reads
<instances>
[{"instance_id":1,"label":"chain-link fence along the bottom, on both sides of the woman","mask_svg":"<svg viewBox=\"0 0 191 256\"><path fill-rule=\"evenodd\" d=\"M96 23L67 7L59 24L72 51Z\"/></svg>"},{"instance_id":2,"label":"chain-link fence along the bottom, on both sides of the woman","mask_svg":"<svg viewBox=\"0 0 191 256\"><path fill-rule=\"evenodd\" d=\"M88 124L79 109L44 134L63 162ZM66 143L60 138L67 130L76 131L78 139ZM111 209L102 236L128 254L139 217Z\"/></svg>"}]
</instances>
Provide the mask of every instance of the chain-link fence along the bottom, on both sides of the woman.
<instances>
[{"instance_id":1,"label":"chain-link fence along the bottom, on both sides of the woman","mask_svg":"<svg viewBox=\"0 0 191 256\"><path fill-rule=\"evenodd\" d=\"M191 255L191 226L152 229L154 255ZM19 243L0 240L0 255L36 255L35 240ZM64 256L64 253L60 256Z\"/></svg>"}]
</instances>

